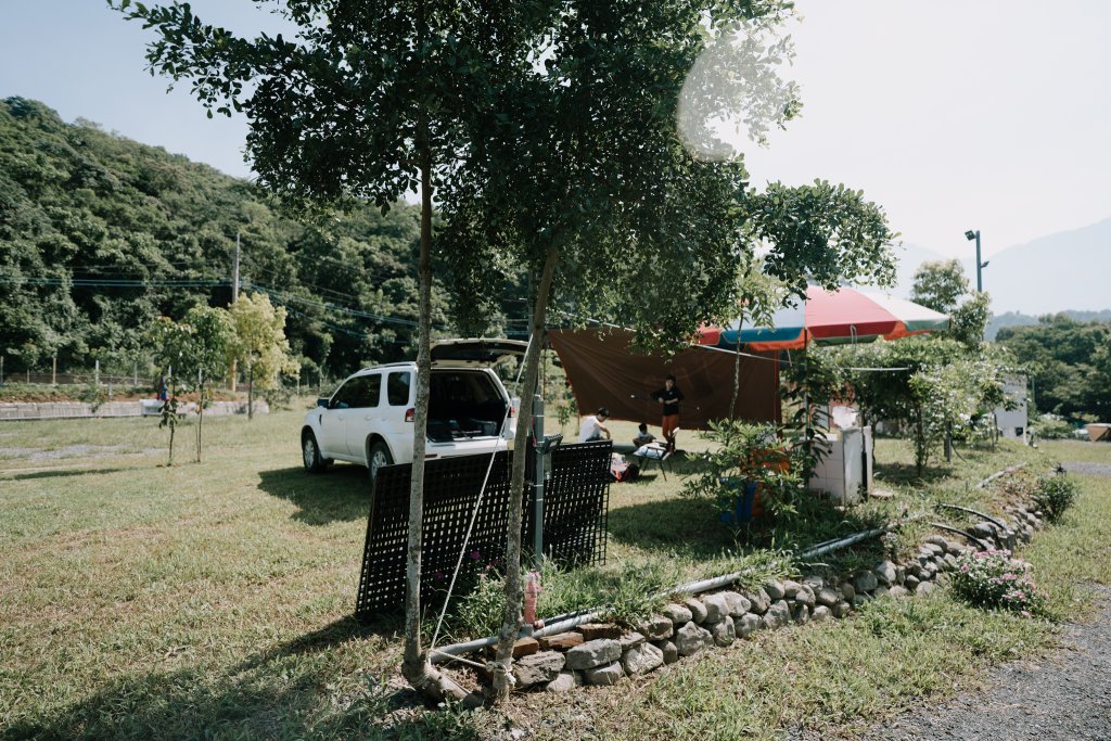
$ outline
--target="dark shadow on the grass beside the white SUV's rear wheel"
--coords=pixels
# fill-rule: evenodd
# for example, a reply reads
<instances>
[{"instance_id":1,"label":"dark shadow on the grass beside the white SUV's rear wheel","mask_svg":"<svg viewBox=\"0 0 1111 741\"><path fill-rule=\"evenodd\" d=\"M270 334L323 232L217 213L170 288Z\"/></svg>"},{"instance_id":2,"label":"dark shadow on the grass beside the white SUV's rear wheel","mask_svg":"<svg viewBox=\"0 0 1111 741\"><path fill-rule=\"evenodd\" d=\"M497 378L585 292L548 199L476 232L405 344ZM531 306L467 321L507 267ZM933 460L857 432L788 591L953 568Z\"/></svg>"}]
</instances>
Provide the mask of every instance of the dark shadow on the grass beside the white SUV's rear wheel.
<instances>
[{"instance_id":1,"label":"dark shadow on the grass beside the white SUV's rear wheel","mask_svg":"<svg viewBox=\"0 0 1111 741\"><path fill-rule=\"evenodd\" d=\"M259 472L259 489L297 505L293 519L307 524L364 520L370 511L370 481L361 465L334 465L324 473L302 468Z\"/></svg>"}]
</instances>

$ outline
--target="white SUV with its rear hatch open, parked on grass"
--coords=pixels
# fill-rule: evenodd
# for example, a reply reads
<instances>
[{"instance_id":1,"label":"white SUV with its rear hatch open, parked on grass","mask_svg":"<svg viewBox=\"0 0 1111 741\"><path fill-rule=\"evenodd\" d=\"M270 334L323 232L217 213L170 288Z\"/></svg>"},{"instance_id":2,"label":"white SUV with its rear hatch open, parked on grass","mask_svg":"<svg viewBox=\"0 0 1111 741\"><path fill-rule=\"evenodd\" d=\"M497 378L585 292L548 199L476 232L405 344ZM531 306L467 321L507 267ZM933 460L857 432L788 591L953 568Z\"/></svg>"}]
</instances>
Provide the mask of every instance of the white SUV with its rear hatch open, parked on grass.
<instances>
[{"instance_id":1,"label":"white SUV with its rear hatch open, parked on grass","mask_svg":"<svg viewBox=\"0 0 1111 741\"><path fill-rule=\"evenodd\" d=\"M432 347L426 458L504 449L517 432L512 400L491 366L528 347L516 340L450 340ZM366 465L411 463L417 413L417 363L364 368L304 417L307 471L334 460Z\"/></svg>"}]
</instances>

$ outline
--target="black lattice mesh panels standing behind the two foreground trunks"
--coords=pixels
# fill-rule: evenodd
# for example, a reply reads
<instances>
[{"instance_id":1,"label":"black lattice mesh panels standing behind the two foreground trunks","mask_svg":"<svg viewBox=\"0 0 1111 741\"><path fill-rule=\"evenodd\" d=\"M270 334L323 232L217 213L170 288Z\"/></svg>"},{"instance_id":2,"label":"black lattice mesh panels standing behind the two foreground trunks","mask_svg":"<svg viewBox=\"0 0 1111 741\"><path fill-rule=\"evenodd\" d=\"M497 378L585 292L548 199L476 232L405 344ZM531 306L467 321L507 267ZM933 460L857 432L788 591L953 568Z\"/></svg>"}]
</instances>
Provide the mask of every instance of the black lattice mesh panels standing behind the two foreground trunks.
<instances>
[{"instance_id":1,"label":"black lattice mesh panels standing behind the two foreground trunks","mask_svg":"<svg viewBox=\"0 0 1111 741\"><path fill-rule=\"evenodd\" d=\"M610 452L608 441L552 451L544 492L544 552L560 565L605 562ZM450 582L489 464L489 455L424 463L422 601L436 601ZM481 564L504 558L511 465L509 452L494 455L464 563L471 561L472 553L478 554ZM410 474L409 464L388 465L378 471L367 521L357 617L398 610L404 604ZM531 478L529 471L527 481ZM524 509L521 540L522 548L529 550L534 519L531 502Z\"/></svg>"}]
</instances>

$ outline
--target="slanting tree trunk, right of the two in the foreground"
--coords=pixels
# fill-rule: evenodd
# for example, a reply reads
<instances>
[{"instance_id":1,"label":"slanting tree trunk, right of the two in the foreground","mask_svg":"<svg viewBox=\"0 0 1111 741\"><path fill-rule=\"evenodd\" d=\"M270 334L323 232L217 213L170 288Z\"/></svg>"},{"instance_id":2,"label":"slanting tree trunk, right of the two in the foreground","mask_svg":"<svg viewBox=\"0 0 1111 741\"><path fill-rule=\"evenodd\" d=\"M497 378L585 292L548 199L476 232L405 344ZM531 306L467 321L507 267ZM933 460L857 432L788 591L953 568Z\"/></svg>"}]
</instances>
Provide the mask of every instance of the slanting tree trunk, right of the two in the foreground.
<instances>
[{"instance_id":1,"label":"slanting tree trunk, right of the two in the foreground","mask_svg":"<svg viewBox=\"0 0 1111 741\"><path fill-rule=\"evenodd\" d=\"M532 327L529 350L524 354L524 379L521 384L521 407L517 414L517 435L513 439L513 471L509 491L509 523L506 542L506 613L498 634L498 652L490 662L494 699L499 702L509 697L513 679L513 642L521 630L521 520L524 513L524 464L528 459L529 431L532 428L532 394L536 392L540 367L540 346L543 343L544 314L548 310L548 294L552 277L556 274L556 259L559 248L552 247L544 259L540 286L537 289L532 309Z\"/></svg>"}]
</instances>

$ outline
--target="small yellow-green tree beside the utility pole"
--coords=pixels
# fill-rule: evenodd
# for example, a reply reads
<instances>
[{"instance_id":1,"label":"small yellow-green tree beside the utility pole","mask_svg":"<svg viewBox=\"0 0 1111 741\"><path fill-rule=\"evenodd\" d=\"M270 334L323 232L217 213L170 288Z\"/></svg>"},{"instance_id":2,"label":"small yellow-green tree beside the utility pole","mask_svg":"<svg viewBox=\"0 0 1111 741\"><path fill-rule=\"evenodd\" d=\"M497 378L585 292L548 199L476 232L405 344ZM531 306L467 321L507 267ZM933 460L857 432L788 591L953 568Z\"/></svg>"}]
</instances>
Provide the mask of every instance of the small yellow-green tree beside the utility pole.
<instances>
[{"instance_id":1,"label":"small yellow-green tree beside the utility pole","mask_svg":"<svg viewBox=\"0 0 1111 741\"><path fill-rule=\"evenodd\" d=\"M289 354L286 310L261 293L246 293L228 310L234 330L228 343L230 360L247 369L247 418L254 417L254 387L272 389L281 374L300 368Z\"/></svg>"}]
</instances>

